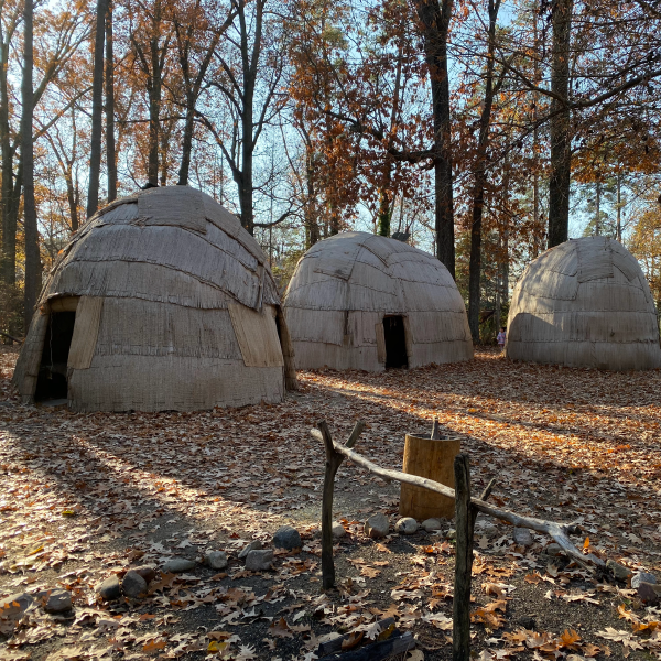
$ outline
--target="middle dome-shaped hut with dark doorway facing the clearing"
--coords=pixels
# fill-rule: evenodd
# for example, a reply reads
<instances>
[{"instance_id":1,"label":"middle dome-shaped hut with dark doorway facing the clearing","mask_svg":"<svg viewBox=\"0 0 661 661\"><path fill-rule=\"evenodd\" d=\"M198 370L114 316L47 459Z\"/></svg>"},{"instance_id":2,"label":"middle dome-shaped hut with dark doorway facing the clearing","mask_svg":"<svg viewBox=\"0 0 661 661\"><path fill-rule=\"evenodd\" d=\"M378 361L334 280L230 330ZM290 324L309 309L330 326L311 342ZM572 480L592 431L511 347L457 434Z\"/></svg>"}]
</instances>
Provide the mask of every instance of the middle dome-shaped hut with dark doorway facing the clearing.
<instances>
[{"instance_id":1,"label":"middle dome-shaped hut with dark doorway facing the clearing","mask_svg":"<svg viewBox=\"0 0 661 661\"><path fill-rule=\"evenodd\" d=\"M315 243L284 300L296 367L420 367L473 358L466 308L447 269L362 231Z\"/></svg>"}]
</instances>

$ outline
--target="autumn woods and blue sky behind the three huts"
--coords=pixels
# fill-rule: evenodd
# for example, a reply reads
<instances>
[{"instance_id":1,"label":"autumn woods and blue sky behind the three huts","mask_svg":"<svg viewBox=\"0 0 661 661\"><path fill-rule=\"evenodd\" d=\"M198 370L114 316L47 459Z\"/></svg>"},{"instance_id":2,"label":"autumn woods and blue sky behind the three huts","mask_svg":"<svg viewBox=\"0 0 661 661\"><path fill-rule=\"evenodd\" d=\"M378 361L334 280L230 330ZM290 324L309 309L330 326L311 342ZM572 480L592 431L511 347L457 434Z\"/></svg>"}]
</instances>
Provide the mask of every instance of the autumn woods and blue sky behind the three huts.
<instances>
[{"instance_id":1,"label":"autumn woods and blue sky behind the three huts","mask_svg":"<svg viewBox=\"0 0 661 661\"><path fill-rule=\"evenodd\" d=\"M347 229L433 252L480 314L568 237L661 305L655 0L0 0L0 330L94 213L189 185L285 285ZM483 314L484 316L484 314Z\"/></svg>"}]
</instances>

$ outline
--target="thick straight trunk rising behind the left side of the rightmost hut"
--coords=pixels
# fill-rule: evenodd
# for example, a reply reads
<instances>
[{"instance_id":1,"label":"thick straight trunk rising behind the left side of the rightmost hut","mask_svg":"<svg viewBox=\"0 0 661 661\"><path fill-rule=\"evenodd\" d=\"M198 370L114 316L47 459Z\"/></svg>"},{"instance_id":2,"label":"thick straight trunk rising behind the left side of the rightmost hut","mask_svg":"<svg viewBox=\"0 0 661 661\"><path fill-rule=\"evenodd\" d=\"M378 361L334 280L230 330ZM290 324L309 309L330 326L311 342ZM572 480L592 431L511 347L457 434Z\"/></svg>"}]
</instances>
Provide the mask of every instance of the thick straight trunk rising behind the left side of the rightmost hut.
<instances>
[{"instance_id":1,"label":"thick straight trunk rising behind the left side of the rightmost hut","mask_svg":"<svg viewBox=\"0 0 661 661\"><path fill-rule=\"evenodd\" d=\"M553 3L553 56L551 91L551 175L549 180L549 248L564 243L570 232L570 183L572 176L570 96L570 43L573 0ZM560 97L560 98L557 98Z\"/></svg>"}]
</instances>

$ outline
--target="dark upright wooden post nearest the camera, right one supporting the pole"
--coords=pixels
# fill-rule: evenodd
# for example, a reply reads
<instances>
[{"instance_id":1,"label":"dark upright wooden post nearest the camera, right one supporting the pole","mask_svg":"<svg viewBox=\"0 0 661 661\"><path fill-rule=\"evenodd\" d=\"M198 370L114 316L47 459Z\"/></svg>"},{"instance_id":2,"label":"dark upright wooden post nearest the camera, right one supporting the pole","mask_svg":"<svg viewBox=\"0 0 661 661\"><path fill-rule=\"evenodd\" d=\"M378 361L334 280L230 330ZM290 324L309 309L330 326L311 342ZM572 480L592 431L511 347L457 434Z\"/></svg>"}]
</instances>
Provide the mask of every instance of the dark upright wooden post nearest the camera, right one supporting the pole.
<instances>
[{"instance_id":1,"label":"dark upright wooden post nearest the camera, right one supporting the pole","mask_svg":"<svg viewBox=\"0 0 661 661\"><path fill-rule=\"evenodd\" d=\"M454 460L457 554L453 600L453 661L470 660L470 574L473 571L473 527L475 512L470 503L470 468L468 455Z\"/></svg>"}]
</instances>

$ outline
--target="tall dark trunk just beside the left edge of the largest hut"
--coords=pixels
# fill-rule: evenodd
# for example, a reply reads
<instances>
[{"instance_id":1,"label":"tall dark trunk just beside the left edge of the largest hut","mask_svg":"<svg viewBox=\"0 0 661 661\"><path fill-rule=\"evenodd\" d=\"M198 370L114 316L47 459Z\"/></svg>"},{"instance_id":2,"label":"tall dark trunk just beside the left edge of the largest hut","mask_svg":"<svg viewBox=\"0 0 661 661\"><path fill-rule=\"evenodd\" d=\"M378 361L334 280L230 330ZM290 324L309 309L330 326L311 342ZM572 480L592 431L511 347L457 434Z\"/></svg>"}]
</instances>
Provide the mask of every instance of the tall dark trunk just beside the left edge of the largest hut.
<instances>
[{"instance_id":1,"label":"tall dark trunk just beside the left edge of the largest hut","mask_svg":"<svg viewBox=\"0 0 661 661\"><path fill-rule=\"evenodd\" d=\"M25 229L25 292L23 319L25 329L30 327L36 300L41 289L41 261L39 254L39 229L36 226L36 203L34 199L34 152L32 142L32 117L34 91L33 72L33 0L25 0L23 9L23 80L21 102L21 161L23 163L23 216Z\"/></svg>"}]
</instances>

